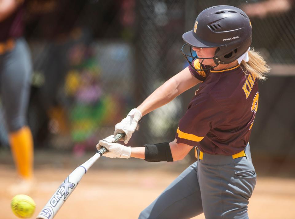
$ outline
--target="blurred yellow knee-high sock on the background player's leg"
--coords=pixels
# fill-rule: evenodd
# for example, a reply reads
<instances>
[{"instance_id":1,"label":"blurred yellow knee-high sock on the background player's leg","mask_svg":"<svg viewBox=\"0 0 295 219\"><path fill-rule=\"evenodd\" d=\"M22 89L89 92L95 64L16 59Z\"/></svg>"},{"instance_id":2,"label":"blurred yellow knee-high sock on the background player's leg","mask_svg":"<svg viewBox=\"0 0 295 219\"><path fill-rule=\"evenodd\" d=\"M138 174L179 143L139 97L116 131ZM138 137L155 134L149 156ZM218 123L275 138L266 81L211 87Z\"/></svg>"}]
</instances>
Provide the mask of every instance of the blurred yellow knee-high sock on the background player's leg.
<instances>
[{"instance_id":1,"label":"blurred yellow knee-high sock on the background player's leg","mask_svg":"<svg viewBox=\"0 0 295 219\"><path fill-rule=\"evenodd\" d=\"M23 179L33 176L34 147L29 127L24 126L16 132L9 133L10 147L18 174Z\"/></svg>"}]
</instances>

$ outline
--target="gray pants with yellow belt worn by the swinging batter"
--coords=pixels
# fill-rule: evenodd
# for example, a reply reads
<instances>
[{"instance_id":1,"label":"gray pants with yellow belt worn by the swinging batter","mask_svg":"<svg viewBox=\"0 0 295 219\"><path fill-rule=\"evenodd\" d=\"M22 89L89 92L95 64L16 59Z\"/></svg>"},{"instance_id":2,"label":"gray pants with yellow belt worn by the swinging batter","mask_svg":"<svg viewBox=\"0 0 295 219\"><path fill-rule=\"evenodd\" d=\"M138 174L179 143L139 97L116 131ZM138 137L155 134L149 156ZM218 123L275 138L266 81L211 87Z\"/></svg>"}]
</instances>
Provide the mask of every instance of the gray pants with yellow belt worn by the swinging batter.
<instances>
[{"instance_id":1,"label":"gray pants with yellow belt worn by the swinging batter","mask_svg":"<svg viewBox=\"0 0 295 219\"><path fill-rule=\"evenodd\" d=\"M182 219L204 212L206 219L248 218L256 184L249 143L246 157L204 154L144 209L139 218ZM198 151L199 154L199 151Z\"/></svg>"}]
</instances>

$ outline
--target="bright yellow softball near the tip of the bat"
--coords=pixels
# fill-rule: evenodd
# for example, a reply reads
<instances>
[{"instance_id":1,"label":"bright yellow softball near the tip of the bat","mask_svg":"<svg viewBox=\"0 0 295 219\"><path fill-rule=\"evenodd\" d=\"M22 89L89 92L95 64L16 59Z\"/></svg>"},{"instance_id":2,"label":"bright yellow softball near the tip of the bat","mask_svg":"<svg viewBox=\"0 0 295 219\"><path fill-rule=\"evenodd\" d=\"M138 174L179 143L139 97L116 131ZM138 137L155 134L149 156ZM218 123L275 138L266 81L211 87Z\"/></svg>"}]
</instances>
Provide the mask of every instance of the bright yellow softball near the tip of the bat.
<instances>
[{"instance_id":1,"label":"bright yellow softball near the tip of the bat","mask_svg":"<svg viewBox=\"0 0 295 219\"><path fill-rule=\"evenodd\" d=\"M27 195L16 195L11 200L11 209L13 213L20 218L32 217L36 204L34 200Z\"/></svg>"}]
</instances>

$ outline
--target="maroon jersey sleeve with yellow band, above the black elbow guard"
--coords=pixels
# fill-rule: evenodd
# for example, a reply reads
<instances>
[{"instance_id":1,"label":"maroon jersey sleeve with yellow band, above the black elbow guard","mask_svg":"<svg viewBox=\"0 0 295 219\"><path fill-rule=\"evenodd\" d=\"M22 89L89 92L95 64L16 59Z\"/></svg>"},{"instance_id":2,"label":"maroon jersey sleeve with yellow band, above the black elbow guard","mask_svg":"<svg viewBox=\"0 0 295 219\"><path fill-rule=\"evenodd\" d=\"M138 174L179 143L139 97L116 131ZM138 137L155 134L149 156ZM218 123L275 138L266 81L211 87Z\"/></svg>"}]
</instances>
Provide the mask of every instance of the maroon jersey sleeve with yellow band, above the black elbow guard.
<instances>
[{"instance_id":1,"label":"maroon jersey sleeve with yellow band, above the black elbow guard","mask_svg":"<svg viewBox=\"0 0 295 219\"><path fill-rule=\"evenodd\" d=\"M222 122L223 113L222 106L210 94L196 95L179 121L175 134L177 143L196 146L210 129Z\"/></svg>"}]
</instances>

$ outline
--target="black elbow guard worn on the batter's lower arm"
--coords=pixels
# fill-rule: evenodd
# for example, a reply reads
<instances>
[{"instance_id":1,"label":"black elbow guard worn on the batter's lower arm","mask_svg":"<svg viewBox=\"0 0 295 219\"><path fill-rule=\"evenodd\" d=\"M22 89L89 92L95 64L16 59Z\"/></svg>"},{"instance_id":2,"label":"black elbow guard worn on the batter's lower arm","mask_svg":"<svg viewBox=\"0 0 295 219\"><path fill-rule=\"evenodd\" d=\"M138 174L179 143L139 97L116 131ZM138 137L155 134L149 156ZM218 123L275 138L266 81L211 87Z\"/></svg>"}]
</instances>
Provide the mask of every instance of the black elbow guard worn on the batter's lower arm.
<instances>
[{"instance_id":1,"label":"black elbow guard worn on the batter's lower arm","mask_svg":"<svg viewBox=\"0 0 295 219\"><path fill-rule=\"evenodd\" d=\"M145 144L145 161L160 162L173 161L169 142L159 144Z\"/></svg>"}]
</instances>

